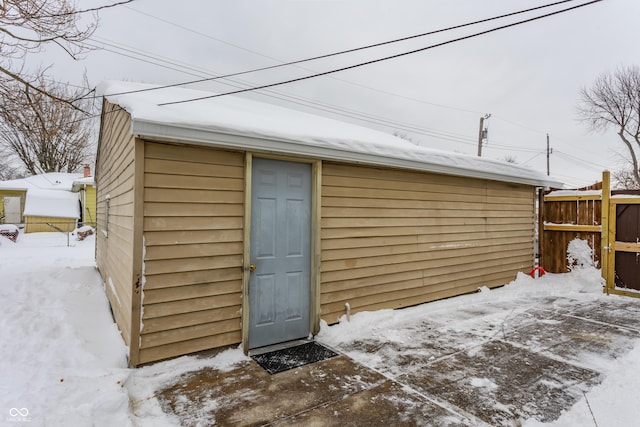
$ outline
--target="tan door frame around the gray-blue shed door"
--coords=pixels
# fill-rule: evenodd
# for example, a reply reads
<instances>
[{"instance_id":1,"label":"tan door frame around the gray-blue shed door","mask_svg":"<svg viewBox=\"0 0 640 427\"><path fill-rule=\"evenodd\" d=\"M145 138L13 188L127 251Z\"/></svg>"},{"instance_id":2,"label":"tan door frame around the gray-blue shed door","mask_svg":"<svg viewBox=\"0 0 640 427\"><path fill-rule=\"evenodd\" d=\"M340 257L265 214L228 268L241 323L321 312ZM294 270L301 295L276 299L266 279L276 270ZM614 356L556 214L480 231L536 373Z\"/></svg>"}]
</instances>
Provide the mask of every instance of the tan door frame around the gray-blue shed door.
<instances>
[{"instance_id":1,"label":"tan door frame around the gray-blue shed door","mask_svg":"<svg viewBox=\"0 0 640 427\"><path fill-rule=\"evenodd\" d=\"M316 335L320 332L320 218L321 218L321 188L322 188L322 160L280 156L271 154L245 153L244 158L244 252L242 261L242 350L249 353L249 276L251 271L251 196L253 158L282 160L311 165L311 259L309 272L310 301L309 301L309 330Z\"/></svg>"}]
</instances>

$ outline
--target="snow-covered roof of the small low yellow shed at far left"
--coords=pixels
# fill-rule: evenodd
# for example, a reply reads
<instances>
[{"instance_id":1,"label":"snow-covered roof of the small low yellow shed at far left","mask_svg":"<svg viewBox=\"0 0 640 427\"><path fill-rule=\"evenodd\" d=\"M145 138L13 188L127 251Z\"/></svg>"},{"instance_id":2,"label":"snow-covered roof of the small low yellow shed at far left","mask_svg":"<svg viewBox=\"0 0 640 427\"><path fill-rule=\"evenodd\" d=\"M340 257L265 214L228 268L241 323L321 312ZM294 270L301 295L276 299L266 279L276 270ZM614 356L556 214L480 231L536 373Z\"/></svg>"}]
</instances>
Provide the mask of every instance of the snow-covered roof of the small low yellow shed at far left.
<instances>
[{"instance_id":1,"label":"snow-covered roof of the small low yellow shed at far left","mask_svg":"<svg viewBox=\"0 0 640 427\"><path fill-rule=\"evenodd\" d=\"M31 188L24 203L24 216L80 218L78 195L71 191Z\"/></svg>"}]
</instances>

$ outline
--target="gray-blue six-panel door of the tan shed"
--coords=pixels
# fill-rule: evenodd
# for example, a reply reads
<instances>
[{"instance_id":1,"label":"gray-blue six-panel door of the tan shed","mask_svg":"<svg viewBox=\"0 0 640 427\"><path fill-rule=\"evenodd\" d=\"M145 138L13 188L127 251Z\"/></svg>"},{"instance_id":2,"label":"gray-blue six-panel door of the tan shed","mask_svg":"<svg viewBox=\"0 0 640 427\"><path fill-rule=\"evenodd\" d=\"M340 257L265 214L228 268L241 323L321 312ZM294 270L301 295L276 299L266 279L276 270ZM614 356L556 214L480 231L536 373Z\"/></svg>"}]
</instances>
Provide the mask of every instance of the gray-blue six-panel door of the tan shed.
<instances>
[{"instance_id":1,"label":"gray-blue six-panel door of the tan shed","mask_svg":"<svg viewBox=\"0 0 640 427\"><path fill-rule=\"evenodd\" d=\"M311 165L253 159L249 348L309 335Z\"/></svg>"}]
</instances>

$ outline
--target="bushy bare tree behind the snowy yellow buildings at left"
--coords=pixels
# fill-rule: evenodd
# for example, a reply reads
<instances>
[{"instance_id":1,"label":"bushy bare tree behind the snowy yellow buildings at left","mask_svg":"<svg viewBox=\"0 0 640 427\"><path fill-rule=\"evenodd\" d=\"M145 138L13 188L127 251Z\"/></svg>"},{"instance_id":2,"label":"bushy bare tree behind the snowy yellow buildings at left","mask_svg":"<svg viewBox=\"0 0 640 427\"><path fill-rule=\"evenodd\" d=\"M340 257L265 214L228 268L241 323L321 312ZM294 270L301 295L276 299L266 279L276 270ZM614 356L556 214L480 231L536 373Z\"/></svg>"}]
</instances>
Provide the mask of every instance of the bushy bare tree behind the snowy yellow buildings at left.
<instances>
[{"instance_id":1,"label":"bushy bare tree behind the snowy yellow buildings at left","mask_svg":"<svg viewBox=\"0 0 640 427\"><path fill-rule=\"evenodd\" d=\"M13 91L0 90L0 145L32 174L77 171L92 157L93 101L78 100L84 87L72 89L43 78L37 83L43 90L19 82L13 83ZM76 101L72 105L58 99Z\"/></svg>"}]
</instances>

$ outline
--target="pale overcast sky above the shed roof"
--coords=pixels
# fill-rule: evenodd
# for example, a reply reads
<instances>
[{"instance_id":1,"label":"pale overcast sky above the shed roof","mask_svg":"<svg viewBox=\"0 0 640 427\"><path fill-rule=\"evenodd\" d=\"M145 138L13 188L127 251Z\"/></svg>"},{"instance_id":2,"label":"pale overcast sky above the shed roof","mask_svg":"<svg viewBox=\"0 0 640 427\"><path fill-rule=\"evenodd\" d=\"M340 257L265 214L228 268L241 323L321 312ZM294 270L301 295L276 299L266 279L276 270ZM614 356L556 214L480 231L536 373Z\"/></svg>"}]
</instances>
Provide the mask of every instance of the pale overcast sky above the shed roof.
<instances>
[{"instance_id":1,"label":"pale overcast sky above the shed roof","mask_svg":"<svg viewBox=\"0 0 640 427\"><path fill-rule=\"evenodd\" d=\"M587 3L579 0L499 21L325 60L234 77L236 86L302 77L420 49L489 28ZM83 0L80 7L115 0ZM89 41L103 47L78 62L50 50L51 73L91 84L170 84L276 65L439 30L551 3L551 0L136 0L100 12ZM601 73L640 65L640 2L604 0L583 8L353 70L241 96L401 133L426 147L515 158L569 186L588 185L622 164L613 130L578 121L579 90ZM235 88L210 82L214 92ZM301 105L303 104L303 105ZM363 116L364 115L364 116ZM355 116L364 118L358 120Z\"/></svg>"}]
</instances>

